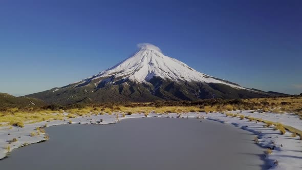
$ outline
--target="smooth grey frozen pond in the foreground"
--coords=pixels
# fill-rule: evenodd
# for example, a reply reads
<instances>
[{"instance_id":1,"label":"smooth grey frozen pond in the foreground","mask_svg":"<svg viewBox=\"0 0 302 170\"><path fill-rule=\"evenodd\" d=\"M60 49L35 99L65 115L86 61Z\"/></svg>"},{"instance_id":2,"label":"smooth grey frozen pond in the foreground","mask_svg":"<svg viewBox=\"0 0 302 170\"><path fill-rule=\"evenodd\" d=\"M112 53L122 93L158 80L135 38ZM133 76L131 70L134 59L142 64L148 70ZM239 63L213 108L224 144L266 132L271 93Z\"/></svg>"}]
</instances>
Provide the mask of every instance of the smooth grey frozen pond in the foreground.
<instances>
[{"instance_id":1,"label":"smooth grey frozen pond in the foreground","mask_svg":"<svg viewBox=\"0 0 302 170\"><path fill-rule=\"evenodd\" d=\"M14 150L0 169L266 169L254 135L211 120L135 118L46 131L49 141Z\"/></svg>"}]
</instances>

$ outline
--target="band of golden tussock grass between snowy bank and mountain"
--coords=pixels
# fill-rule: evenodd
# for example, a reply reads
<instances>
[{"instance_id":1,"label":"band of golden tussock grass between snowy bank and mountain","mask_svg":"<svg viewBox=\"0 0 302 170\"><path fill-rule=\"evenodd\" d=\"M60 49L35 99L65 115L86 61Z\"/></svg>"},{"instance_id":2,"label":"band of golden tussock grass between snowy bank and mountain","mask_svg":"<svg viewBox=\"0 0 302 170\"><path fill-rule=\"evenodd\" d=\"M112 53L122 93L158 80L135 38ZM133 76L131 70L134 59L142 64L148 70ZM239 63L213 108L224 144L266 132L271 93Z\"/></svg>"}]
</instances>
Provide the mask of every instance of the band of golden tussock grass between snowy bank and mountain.
<instances>
[{"instance_id":1,"label":"band of golden tussock grass between snowy bank and mountain","mask_svg":"<svg viewBox=\"0 0 302 170\"><path fill-rule=\"evenodd\" d=\"M17 125L34 123L40 121L52 121L68 119L77 116L89 116L92 114L133 114L143 113L178 113L187 112L221 112L227 113L233 110L262 110L272 113L295 113L302 119L302 96L292 97L271 97L258 99L205 99L195 101L163 101L148 103L134 102L108 102L90 103L85 99L81 104L67 105L45 105L44 107L16 107L0 110L1 125ZM1 108L1 107L0 107ZM64 114L68 113L68 115Z\"/></svg>"}]
</instances>

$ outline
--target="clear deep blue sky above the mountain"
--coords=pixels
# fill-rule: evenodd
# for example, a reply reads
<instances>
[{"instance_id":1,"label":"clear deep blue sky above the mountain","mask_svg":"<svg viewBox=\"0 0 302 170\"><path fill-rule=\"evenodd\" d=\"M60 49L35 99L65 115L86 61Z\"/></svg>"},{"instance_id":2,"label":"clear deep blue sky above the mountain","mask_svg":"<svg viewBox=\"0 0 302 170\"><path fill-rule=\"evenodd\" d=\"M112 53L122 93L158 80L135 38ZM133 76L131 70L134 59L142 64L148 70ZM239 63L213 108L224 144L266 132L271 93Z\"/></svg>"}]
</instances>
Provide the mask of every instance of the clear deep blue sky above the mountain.
<instances>
[{"instance_id":1,"label":"clear deep blue sky above the mountain","mask_svg":"<svg viewBox=\"0 0 302 170\"><path fill-rule=\"evenodd\" d=\"M302 92L302 1L0 2L0 92L107 69L141 42L244 87Z\"/></svg>"}]
</instances>

